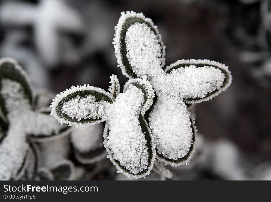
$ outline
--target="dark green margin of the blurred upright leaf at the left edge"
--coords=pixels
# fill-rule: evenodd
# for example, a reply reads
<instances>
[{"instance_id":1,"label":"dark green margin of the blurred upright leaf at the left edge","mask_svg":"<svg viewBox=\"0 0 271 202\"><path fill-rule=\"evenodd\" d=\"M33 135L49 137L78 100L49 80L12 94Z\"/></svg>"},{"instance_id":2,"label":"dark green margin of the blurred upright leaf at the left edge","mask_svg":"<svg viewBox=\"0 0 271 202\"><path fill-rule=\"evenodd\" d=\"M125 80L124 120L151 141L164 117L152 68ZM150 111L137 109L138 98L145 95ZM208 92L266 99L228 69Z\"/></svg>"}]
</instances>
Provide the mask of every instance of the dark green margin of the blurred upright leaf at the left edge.
<instances>
[{"instance_id":1,"label":"dark green margin of the blurred upright leaf at the left edge","mask_svg":"<svg viewBox=\"0 0 271 202\"><path fill-rule=\"evenodd\" d=\"M22 85L25 96L28 98L29 103L32 103L32 91L26 77L22 75L21 71L15 68L15 64L11 62L4 62L0 67L0 91L2 89L2 79L7 78L16 81ZM0 94L0 107L2 112L6 115L8 112L5 108L4 98Z\"/></svg>"}]
</instances>

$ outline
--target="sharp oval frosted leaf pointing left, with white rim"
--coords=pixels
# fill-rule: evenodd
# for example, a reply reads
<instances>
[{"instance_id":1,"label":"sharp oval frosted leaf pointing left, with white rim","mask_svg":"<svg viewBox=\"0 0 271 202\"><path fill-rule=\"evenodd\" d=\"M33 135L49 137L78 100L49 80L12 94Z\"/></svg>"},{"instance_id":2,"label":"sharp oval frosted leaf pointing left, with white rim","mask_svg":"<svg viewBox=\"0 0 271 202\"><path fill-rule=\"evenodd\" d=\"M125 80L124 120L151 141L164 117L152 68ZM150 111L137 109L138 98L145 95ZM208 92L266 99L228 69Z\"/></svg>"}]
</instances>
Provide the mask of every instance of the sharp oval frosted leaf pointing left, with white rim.
<instances>
[{"instance_id":1,"label":"sharp oval frosted leaf pointing left, with white rim","mask_svg":"<svg viewBox=\"0 0 271 202\"><path fill-rule=\"evenodd\" d=\"M95 125L105 120L104 113L112 102L111 95L103 89L90 85L72 86L53 99L51 115L61 124Z\"/></svg>"}]
</instances>

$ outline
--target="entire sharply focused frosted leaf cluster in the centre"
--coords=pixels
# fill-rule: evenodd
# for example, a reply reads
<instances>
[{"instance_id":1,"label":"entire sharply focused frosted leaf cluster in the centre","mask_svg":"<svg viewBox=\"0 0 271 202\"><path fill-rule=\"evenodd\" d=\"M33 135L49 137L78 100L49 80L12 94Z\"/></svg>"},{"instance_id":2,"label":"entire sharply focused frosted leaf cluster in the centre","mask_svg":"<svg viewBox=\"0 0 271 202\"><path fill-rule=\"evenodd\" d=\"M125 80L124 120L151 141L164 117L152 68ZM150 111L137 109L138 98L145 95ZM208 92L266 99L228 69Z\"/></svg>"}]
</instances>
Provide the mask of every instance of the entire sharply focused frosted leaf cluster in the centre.
<instances>
[{"instance_id":1,"label":"entire sharply focused frosted leaf cluster in the centre","mask_svg":"<svg viewBox=\"0 0 271 202\"><path fill-rule=\"evenodd\" d=\"M72 86L55 97L51 115L76 126L106 121L108 158L128 177L147 176L156 158L174 167L188 164L197 130L187 106L226 90L232 81L228 67L192 59L163 70L165 46L157 26L133 11L121 13L113 44L118 66L129 78L123 93L116 76L110 77L110 93Z\"/></svg>"}]
</instances>

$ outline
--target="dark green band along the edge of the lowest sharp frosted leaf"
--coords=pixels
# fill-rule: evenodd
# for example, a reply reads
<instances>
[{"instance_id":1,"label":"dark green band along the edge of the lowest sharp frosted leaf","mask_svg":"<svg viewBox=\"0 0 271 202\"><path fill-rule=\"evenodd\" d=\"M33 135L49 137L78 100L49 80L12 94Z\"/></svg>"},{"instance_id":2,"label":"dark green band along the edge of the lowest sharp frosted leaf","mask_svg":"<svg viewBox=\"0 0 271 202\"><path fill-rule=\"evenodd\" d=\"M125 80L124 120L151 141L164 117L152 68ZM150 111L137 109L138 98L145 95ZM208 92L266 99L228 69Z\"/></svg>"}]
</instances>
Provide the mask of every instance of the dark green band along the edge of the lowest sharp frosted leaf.
<instances>
[{"instance_id":1,"label":"dark green band along the edge of the lowest sharp frosted leaf","mask_svg":"<svg viewBox=\"0 0 271 202\"><path fill-rule=\"evenodd\" d=\"M148 153L149 153L149 159L148 159L148 168L151 166L151 160L152 160L152 156L153 156L153 153L152 153L152 141L151 141L151 136L150 136L150 133L148 131L148 127L147 127L147 124L144 120L144 118L142 118L141 116L139 117L139 122L140 122L140 126L141 126L141 129L142 129L142 133L145 133L145 140L147 141L147 144L146 146L148 147ZM107 130L107 136L109 135L109 129ZM115 160L115 159L114 159ZM120 164L120 162L118 160L115 160L115 162L119 165L119 167L131 174L131 175L143 175L144 173L146 173L148 171L148 168L147 169L144 169L142 170L141 172L139 173L132 173L130 170L126 169L123 165Z\"/></svg>"}]
</instances>

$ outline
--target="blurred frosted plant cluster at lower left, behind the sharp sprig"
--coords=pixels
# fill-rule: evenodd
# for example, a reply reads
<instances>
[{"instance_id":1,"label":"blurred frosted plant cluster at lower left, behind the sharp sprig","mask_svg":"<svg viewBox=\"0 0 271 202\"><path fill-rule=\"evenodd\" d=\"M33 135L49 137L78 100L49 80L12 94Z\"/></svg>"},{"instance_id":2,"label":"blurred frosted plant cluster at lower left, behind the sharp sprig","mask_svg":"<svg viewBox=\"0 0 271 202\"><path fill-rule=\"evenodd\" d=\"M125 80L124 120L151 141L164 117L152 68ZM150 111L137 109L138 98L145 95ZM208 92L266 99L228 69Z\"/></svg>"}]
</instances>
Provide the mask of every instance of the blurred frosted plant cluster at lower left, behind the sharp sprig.
<instances>
[{"instance_id":1,"label":"blurred frosted plant cluster at lower left, behind the sharp sprig","mask_svg":"<svg viewBox=\"0 0 271 202\"><path fill-rule=\"evenodd\" d=\"M33 93L15 60L0 59L0 180L79 179L85 170L68 160L70 145L82 164L105 157L102 126L84 129L82 142L82 129L68 129L50 116L51 99L46 91Z\"/></svg>"}]
</instances>

